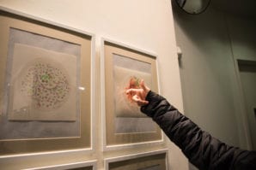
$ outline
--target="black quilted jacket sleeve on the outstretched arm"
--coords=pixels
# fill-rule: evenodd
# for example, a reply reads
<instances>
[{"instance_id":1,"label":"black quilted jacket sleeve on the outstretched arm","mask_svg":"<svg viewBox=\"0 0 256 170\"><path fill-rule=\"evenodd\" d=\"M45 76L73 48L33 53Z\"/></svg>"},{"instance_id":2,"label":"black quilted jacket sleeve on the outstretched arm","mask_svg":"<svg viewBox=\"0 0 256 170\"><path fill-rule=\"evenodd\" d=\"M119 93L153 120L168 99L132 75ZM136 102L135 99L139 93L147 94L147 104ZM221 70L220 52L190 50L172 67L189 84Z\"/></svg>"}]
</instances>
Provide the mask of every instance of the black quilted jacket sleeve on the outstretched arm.
<instances>
[{"instance_id":1,"label":"black quilted jacket sleeve on the outstretched arm","mask_svg":"<svg viewBox=\"0 0 256 170\"><path fill-rule=\"evenodd\" d=\"M255 151L235 148L211 137L153 91L149 91L146 100L149 104L141 107L141 111L152 117L168 138L199 169L256 170Z\"/></svg>"}]
</instances>

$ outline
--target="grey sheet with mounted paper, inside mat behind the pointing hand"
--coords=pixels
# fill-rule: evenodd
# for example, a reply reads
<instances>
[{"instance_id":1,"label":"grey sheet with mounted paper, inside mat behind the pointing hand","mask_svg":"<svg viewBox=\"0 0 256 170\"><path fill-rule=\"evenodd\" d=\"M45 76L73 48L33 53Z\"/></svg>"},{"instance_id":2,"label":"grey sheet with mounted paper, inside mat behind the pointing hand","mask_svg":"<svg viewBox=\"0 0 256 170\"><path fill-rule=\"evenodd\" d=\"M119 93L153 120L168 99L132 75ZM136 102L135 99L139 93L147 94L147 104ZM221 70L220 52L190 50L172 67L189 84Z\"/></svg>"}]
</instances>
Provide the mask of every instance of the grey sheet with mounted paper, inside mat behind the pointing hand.
<instances>
[{"instance_id":1,"label":"grey sheet with mounted paper, inside mat behind the pointing hand","mask_svg":"<svg viewBox=\"0 0 256 170\"><path fill-rule=\"evenodd\" d=\"M115 132L155 132L154 121L141 113L137 104L131 103L125 94L131 78L136 77L137 84L143 79L149 88L152 87L150 64L119 55L114 55L113 60Z\"/></svg>"}]
</instances>

